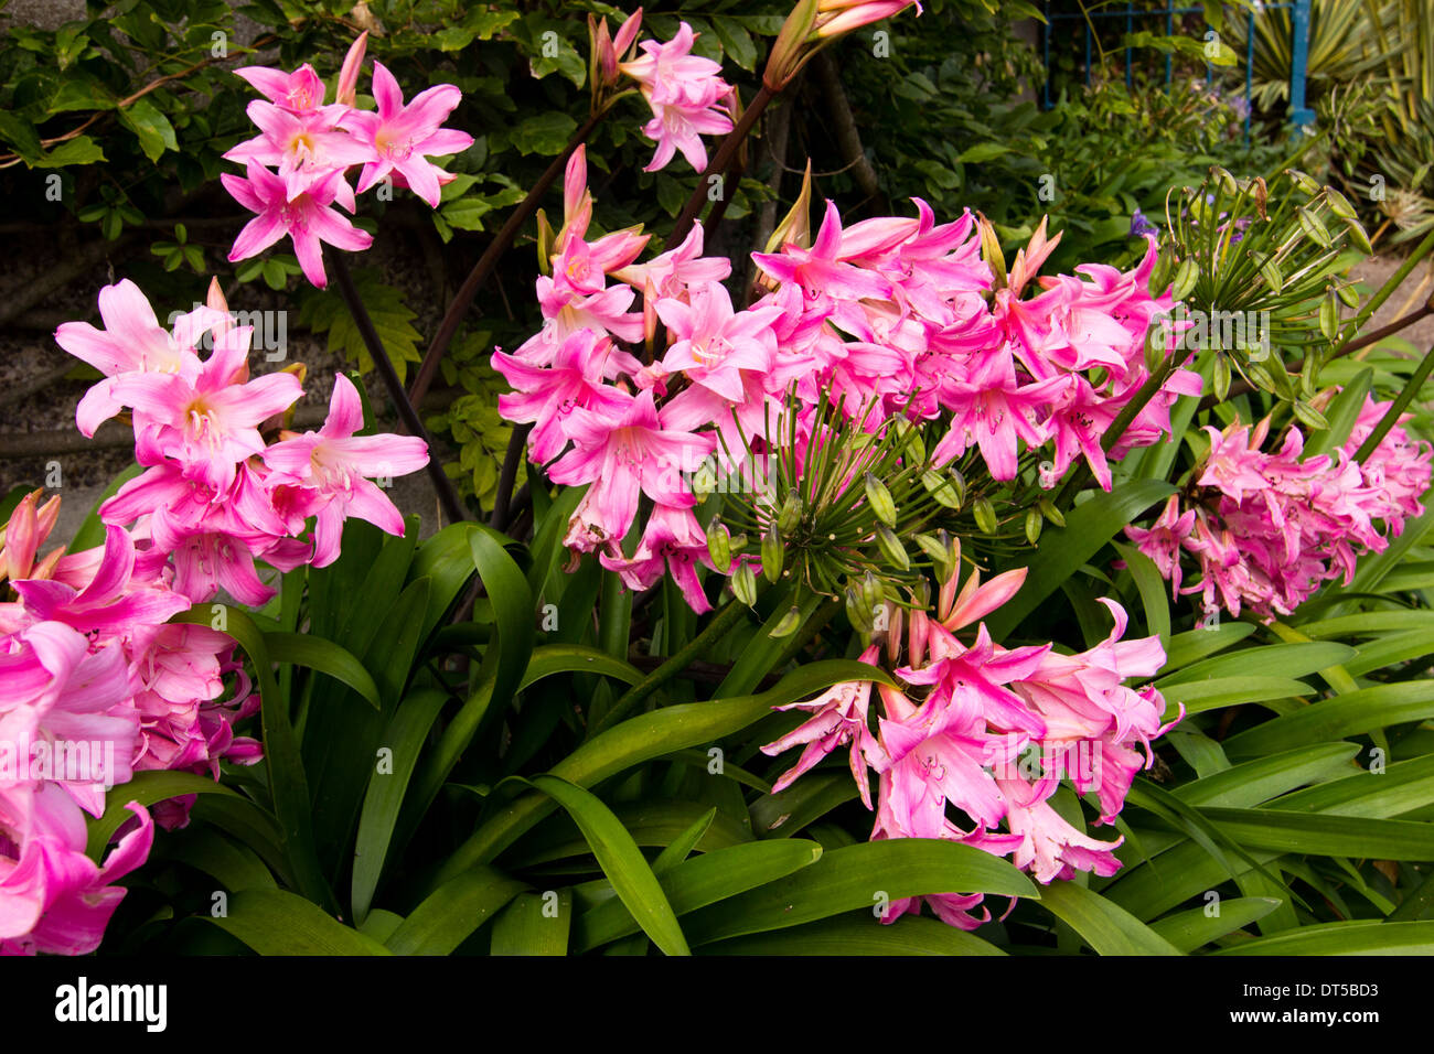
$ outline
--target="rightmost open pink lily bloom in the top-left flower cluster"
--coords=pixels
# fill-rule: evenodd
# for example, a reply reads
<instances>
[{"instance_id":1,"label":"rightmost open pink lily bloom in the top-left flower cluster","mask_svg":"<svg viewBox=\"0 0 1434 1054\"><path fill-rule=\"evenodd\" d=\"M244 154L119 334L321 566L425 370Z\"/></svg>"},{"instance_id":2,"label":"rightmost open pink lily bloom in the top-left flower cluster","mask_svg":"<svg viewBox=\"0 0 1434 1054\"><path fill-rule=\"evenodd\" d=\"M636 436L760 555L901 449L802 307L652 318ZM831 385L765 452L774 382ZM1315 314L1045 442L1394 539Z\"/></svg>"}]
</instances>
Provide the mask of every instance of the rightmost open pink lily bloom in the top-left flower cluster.
<instances>
[{"instance_id":1,"label":"rightmost open pink lily bloom in the top-left flower cluster","mask_svg":"<svg viewBox=\"0 0 1434 1054\"><path fill-rule=\"evenodd\" d=\"M453 85L436 85L404 106L399 82L381 62L374 62L373 96L377 113L354 110L346 119L354 138L373 153L358 176L358 192L397 172L430 208L437 208L446 174L429 158L459 153L473 145L467 132L442 126L463 93Z\"/></svg>"}]
</instances>

